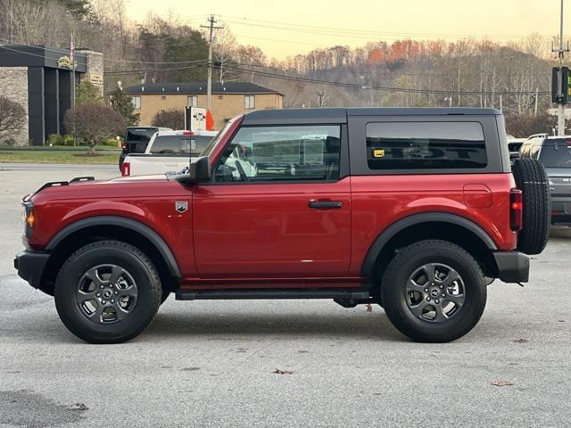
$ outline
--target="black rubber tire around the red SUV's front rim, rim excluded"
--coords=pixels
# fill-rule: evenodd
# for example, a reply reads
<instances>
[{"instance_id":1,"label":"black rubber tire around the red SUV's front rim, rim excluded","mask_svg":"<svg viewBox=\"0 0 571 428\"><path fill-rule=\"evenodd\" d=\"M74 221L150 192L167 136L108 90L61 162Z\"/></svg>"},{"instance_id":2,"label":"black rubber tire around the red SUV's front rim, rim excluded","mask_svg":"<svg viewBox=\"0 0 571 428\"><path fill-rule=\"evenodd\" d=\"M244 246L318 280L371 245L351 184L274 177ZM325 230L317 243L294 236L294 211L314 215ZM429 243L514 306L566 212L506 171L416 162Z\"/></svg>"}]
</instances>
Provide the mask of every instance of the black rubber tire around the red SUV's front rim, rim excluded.
<instances>
[{"instance_id":1,"label":"black rubber tire around the red SUV's front rim, rim excluded","mask_svg":"<svg viewBox=\"0 0 571 428\"><path fill-rule=\"evenodd\" d=\"M128 269L137 283L137 303L128 317L103 325L79 309L76 291L88 269L112 264ZM120 343L134 338L151 323L161 304L161 279L151 259L133 245L97 241L75 251L65 261L55 281L55 307L62 323L86 342Z\"/></svg>"}]
</instances>

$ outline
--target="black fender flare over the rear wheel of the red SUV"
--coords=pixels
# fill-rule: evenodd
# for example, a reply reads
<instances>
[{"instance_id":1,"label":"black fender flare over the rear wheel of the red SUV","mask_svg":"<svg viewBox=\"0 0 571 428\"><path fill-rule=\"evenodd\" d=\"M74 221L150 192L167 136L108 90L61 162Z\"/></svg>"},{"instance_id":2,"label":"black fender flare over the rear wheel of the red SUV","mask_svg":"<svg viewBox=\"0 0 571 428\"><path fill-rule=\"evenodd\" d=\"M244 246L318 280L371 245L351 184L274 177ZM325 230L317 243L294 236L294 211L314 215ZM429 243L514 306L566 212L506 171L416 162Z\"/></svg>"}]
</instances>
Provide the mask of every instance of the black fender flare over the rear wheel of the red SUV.
<instances>
[{"instance_id":1,"label":"black fender flare over the rear wheel of the red SUV","mask_svg":"<svg viewBox=\"0 0 571 428\"><path fill-rule=\"evenodd\" d=\"M373 268L375 267L378 255L383 251L386 243L388 243L394 235L410 226L434 222L450 223L452 225L464 227L480 238L490 251L498 250L498 247L493 242L490 235L488 235L482 227L476 225L472 220L447 212L422 212L419 214L412 214L409 217L395 221L391 226L385 228L385 230L377 236L375 242L368 249L367 257L363 261L363 265L360 269L360 275L364 277L370 276Z\"/></svg>"}]
</instances>

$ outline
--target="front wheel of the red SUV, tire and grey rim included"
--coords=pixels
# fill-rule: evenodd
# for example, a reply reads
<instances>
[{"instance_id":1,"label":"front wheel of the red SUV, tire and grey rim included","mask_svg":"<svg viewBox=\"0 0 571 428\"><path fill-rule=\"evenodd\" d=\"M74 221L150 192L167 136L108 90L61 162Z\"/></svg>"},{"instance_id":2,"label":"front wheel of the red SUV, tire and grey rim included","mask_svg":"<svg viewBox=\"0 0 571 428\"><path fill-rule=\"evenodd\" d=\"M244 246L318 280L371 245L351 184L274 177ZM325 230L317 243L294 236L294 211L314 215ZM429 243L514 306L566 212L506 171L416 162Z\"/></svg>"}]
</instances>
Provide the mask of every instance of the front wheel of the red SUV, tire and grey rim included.
<instances>
[{"instance_id":1,"label":"front wheel of the red SUV, tire and grey rim included","mask_svg":"<svg viewBox=\"0 0 571 428\"><path fill-rule=\"evenodd\" d=\"M153 262L119 241L89 243L71 254L55 280L63 324L91 343L126 342L145 330L161 303Z\"/></svg>"}]
</instances>

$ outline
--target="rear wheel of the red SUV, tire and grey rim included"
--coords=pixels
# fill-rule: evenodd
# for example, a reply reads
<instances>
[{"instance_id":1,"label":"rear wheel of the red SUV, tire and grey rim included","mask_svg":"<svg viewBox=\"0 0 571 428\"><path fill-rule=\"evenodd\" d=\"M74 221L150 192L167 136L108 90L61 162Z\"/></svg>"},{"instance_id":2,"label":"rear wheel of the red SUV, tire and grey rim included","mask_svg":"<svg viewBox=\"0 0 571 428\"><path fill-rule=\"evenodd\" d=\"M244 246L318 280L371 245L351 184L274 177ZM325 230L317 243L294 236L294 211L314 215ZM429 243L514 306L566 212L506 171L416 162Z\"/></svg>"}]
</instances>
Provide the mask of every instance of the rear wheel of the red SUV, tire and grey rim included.
<instances>
[{"instance_id":1,"label":"rear wheel of the red SUV, tire and grey rim included","mask_svg":"<svg viewBox=\"0 0 571 428\"><path fill-rule=\"evenodd\" d=\"M458 245L413 243L390 261L381 283L387 317L417 342L451 342L484 313L486 287L476 260Z\"/></svg>"}]
</instances>

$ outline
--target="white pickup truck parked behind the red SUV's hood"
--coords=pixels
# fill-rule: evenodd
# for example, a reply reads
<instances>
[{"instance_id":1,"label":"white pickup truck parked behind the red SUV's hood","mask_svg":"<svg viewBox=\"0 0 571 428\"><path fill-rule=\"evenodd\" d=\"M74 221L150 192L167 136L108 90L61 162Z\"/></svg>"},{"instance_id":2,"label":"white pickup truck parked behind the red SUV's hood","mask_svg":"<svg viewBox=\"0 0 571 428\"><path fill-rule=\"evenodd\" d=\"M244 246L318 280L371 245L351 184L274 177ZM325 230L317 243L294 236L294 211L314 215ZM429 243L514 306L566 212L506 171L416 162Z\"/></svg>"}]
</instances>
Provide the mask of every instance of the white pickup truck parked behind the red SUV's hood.
<instances>
[{"instance_id":1,"label":"white pickup truck parked behind the red SUV's hood","mask_svg":"<svg viewBox=\"0 0 571 428\"><path fill-rule=\"evenodd\" d=\"M121 166L121 176L146 176L180 171L190 156L198 156L217 131L159 131L146 146L145 153L129 153Z\"/></svg>"}]
</instances>

